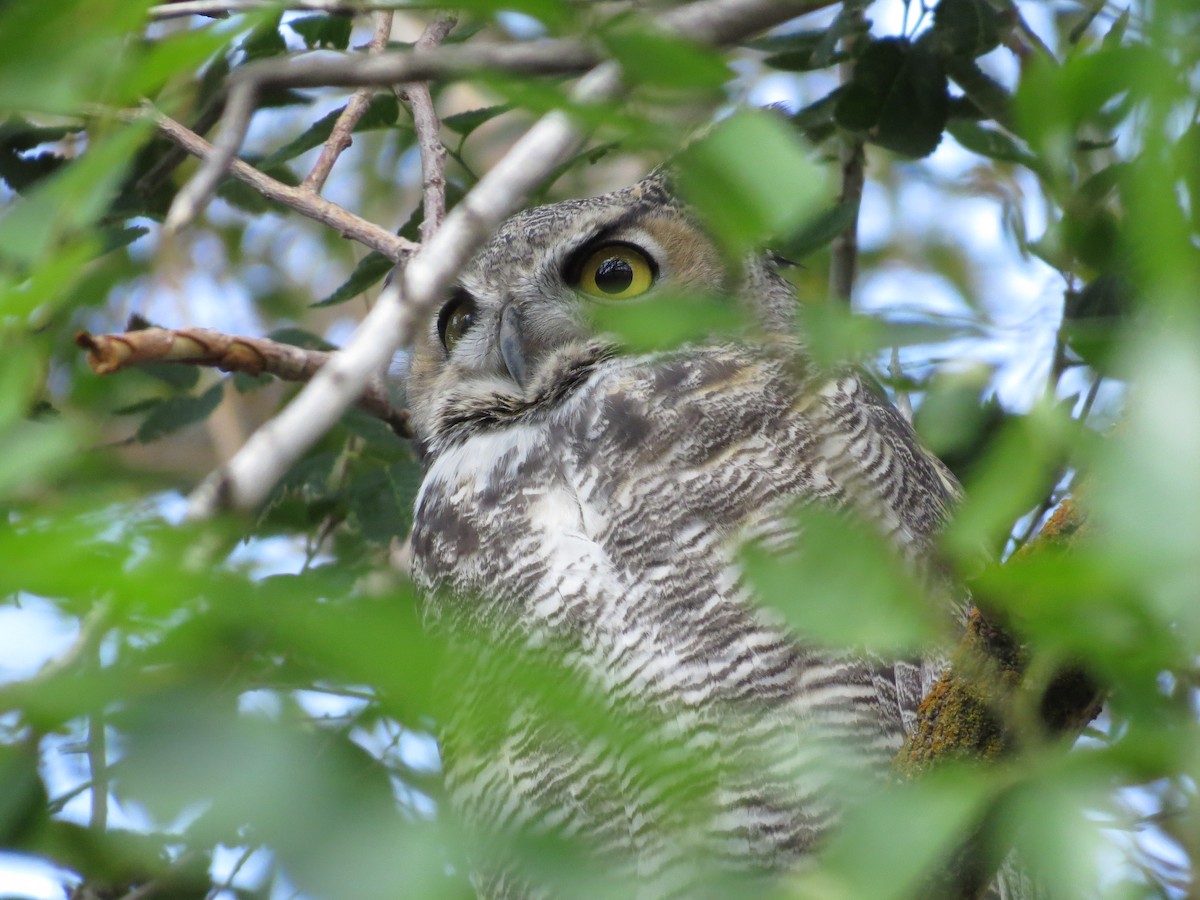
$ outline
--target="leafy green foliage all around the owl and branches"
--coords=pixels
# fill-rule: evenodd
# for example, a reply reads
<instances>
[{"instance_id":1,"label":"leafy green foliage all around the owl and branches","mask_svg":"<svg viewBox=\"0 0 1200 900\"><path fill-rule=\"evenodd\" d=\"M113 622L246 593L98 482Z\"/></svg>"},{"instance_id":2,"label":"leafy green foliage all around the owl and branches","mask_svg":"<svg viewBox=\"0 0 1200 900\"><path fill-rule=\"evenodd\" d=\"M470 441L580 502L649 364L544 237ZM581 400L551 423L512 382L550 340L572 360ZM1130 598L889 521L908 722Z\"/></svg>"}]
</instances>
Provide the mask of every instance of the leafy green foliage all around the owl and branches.
<instances>
[{"instance_id":1,"label":"leafy green foliage all around the owl and branches","mask_svg":"<svg viewBox=\"0 0 1200 900\"><path fill-rule=\"evenodd\" d=\"M149 882L155 896L205 896L228 874L212 869L218 844L260 847L254 858L266 874L232 888L247 900L284 884L338 900L468 896L466 841L440 803L439 775L397 750L427 742L455 700L454 683L446 696L434 682L456 648L422 628L418 598L389 562L410 527L420 479L410 448L352 409L254 517L168 522L163 511L215 464L210 444L242 437L292 389L239 373L227 391L229 379L174 364L101 378L71 343L78 329L118 330L130 310L158 314L167 304L174 320L190 308L176 288L194 268L211 268L214 280L247 286L251 320L270 337L331 349L319 334L358 308L311 306L361 295L391 260L367 253L355 263L341 236L292 230L299 216L233 180L221 187L228 204L167 240L156 223L194 161L121 110L149 100L212 139L234 73L282 60L300 41L346 49L367 19L289 13L284 22L274 7L148 31L149 5L0 5L0 612L4 628L42 616L65 635L49 667L0 683L0 845L114 896ZM488 142L535 113L566 108L594 130L535 199L592 190L593 166L618 149L653 163L698 134L676 157L680 190L731 263L763 242L803 263L785 274L802 289L814 370L905 350L902 371L883 383L912 395L918 430L967 491L941 547L946 576L968 582L1030 660L998 714L1016 755L935 767L870 798L787 886L797 895L922 896L930 874L976 832L982 859L1015 841L1055 896L1123 900L1169 893L1162 884L1174 877L1165 863L1147 863L1130 836L1139 829L1184 857L1200 846L1200 18L1186 0L1128 10L1055 4L1057 18L1026 16L1057 30L1040 36L1056 48L1046 59L1015 18L1028 6L941 0L923 14L911 4L905 32L889 34L865 20L868 4L844 2L828 28L802 19L749 42L766 68L805 78L804 108L790 118L734 112L710 125L710 113L745 90L731 80L730 54L664 37L640 7L601 26L595 5L527 0L505 8L533 16L551 36L586 31L623 66L629 94L572 106L560 79L480 73L472 86L480 96L466 102L476 108L443 122L451 206L479 161L500 151ZM462 14L452 42L469 48L499 36L494 5ZM1014 46L1025 48L1015 84L1001 83L985 56ZM443 89L434 85L434 96L449 108ZM299 184L298 157L320 145L340 112L318 119L308 109L318 96L263 91L252 149L265 156L244 158ZM481 127L493 120L497 127ZM419 192L389 182L415 143L409 122L396 96L378 91L337 173L358 167L347 192L361 204L354 211L386 228L408 216L400 233L416 240ZM978 157L970 173L948 181L920 162L892 164L893 155L932 152L944 132ZM856 139L866 142L866 178L884 197L876 208L898 220L860 254L864 276L936 274L966 301L961 313L863 316L823 302L826 247L858 208L835 199L840 170L828 163ZM1007 312L1019 298L996 296L994 270L965 241L910 233L901 188L918 179L938 192L935 203L1003 198L997 217L1016 248L1040 260L1028 271L1061 296L1061 323L1054 311L1043 317L1054 334L1038 332L1054 343L1052 358L1039 360L1050 372L1045 398L1027 409L997 400L990 368L946 359L968 338L1036 342L1024 325L997 326L991 307ZM1039 194L1044 230L1025 234L1022 192ZM259 233L256 244L250 216L268 209L283 214L270 218L278 234ZM342 281L317 304L286 271L296 247L317 254L311 271L332 274L323 284ZM266 266L272 278L262 278ZM223 300L205 299L208 308ZM748 330L721 296L658 296L596 318L634 350ZM222 398L228 407L214 415ZM1116 418L1115 433L1094 430ZM1036 530L1028 518L1080 480L1088 523L1063 533L1051 522L1048 538L1000 562ZM876 652L922 649L948 628L872 532L818 509L797 523L804 541L793 558L746 552L750 576L797 628ZM265 574L277 570L288 574ZM644 732L643 719L614 713L552 661L493 650L512 672L510 695L475 727L496 727L514 703L538 697L578 733ZM1074 750L1038 719L1063 672L1086 672L1111 697ZM688 811L713 761L647 761L682 764ZM79 824L89 811L85 769L107 776L114 809L137 804L150 815L143 832ZM1151 815L1130 811L1130 790ZM184 810L191 815L175 821ZM514 846L566 894L629 893L586 848L528 835ZM1132 862L1120 870L1106 862L1118 857Z\"/></svg>"}]
</instances>

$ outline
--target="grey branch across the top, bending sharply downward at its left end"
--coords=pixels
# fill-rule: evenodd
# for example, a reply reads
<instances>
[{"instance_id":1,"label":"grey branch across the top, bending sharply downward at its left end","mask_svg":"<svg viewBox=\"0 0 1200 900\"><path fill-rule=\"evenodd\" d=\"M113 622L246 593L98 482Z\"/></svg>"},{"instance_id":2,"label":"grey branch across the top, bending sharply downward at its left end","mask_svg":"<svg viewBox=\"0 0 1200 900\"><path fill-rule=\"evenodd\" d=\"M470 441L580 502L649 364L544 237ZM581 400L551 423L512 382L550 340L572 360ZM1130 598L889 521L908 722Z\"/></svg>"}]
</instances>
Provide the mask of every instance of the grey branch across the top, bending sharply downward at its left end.
<instances>
[{"instance_id":1,"label":"grey branch across the top, bending sharply downward at its left end","mask_svg":"<svg viewBox=\"0 0 1200 900\"><path fill-rule=\"evenodd\" d=\"M655 24L697 43L736 43L758 31L840 0L700 0L668 10ZM518 44L461 44L410 53L353 55L341 59L306 56L271 59L245 66L230 78L224 121L214 152L172 203L163 227L184 228L208 204L226 168L246 137L257 96L263 88L392 85L455 78L481 71L523 74L574 74L599 62L595 49L582 41L536 41Z\"/></svg>"}]
</instances>

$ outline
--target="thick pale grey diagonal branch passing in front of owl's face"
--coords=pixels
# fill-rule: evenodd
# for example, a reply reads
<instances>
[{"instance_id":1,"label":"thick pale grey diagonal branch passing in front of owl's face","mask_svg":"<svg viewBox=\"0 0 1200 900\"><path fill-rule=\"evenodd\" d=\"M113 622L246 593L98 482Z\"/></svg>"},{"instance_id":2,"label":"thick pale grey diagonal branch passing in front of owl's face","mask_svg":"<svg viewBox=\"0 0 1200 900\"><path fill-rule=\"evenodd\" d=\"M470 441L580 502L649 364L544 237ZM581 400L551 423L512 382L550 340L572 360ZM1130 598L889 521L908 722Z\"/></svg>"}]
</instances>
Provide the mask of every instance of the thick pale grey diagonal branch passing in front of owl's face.
<instances>
[{"instance_id":1,"label":"thick pale grey diagonal branch passing in front of owl's face","mask_svg":"<svg viewBox=\"0 0 1200 900\"><path fill-rule=\"evenodd\" d=\"M828 0L702 0L672 10L659 20L685 37L726 43L826 5ZM595 102L613 96L619 86L617 66L602 64L576 84L571 100ZM402 277L392 278L346 349L193 491L190 516L204 518L222 505L258 505L287 468L361 394L396 348L412 343L418 323L427 320L492 229L550 172L570 158L581 139L580 127L565 113L556 110L542 116L446 216Z\"/></svg>"}]
</instances>

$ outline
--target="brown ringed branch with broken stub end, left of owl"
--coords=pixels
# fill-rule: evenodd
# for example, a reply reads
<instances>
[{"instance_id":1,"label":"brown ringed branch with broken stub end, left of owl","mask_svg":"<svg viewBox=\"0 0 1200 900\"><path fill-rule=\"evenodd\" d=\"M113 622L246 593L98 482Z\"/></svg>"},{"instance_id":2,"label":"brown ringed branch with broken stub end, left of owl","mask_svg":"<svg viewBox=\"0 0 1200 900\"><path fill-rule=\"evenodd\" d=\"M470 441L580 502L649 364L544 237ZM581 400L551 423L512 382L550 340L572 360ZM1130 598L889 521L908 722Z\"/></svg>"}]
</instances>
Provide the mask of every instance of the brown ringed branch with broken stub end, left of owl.
<instances>
[{"instance_id":1,"label":"brown ringed branch with broken stub end, left of owl","mask_svg":"<svg viewBox=\"0 0 1200 900\"><path fill-rule=\"evenodd\" d=\"M88 350L88 365L96 374L112 374L148 362L211 366L222 372L272 374L284 382L307 382L334 355L265 337L239 337L208 328L144 328L119 335L80 331L76 343ZM412 438L408 410L392 406L382 378L368 380L355 401L365 413L385 421L402 438Z\"/></svg>"}]
</instances>

